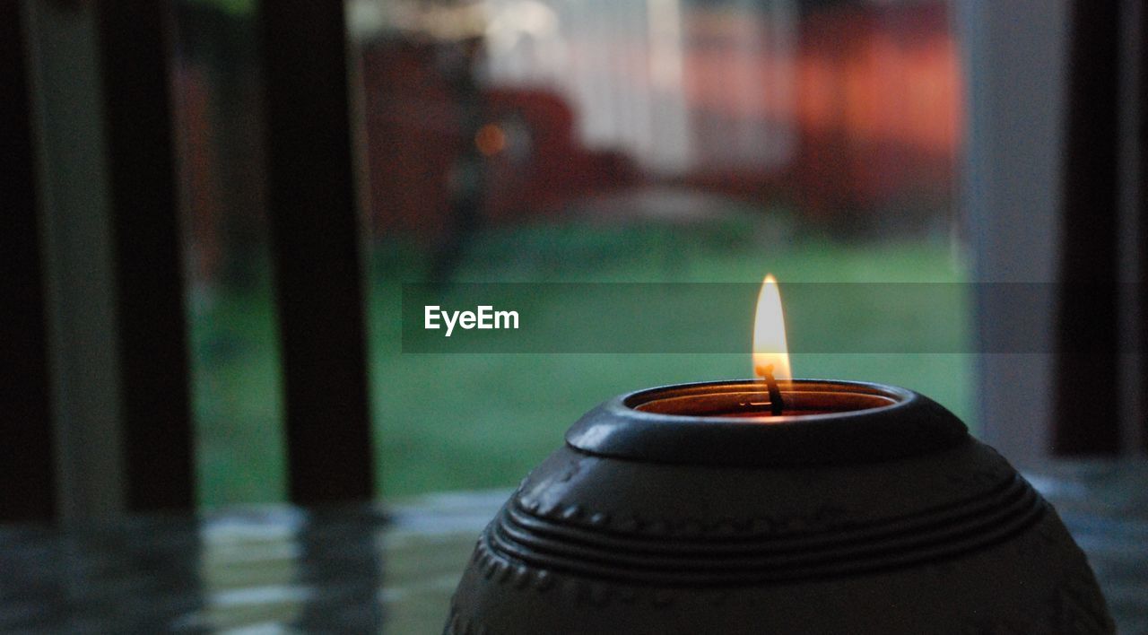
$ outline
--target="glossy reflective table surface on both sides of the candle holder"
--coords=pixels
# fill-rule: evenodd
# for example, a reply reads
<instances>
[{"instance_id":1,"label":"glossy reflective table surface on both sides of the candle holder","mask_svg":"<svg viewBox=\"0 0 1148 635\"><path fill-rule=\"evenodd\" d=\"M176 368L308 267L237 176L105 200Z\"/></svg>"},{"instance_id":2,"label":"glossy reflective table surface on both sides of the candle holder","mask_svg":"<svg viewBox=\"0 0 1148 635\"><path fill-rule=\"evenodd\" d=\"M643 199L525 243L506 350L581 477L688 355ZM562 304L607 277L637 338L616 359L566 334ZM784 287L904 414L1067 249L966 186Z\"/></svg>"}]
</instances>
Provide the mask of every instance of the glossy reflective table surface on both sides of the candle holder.
<instances>
[{"instance_id":1,"label":"glossy reflective table surface on both sides of the candle holder","mask_svg":"<svg viewBox=\"0 0 1148 635\"><path fill-rule=\"evenodd\" d=\"M1025 471L1088 553L1120 633L1148 634L1148 463ZM441 633L509 490L0 527L0 632Z\"/></svg>"}]
</instances>

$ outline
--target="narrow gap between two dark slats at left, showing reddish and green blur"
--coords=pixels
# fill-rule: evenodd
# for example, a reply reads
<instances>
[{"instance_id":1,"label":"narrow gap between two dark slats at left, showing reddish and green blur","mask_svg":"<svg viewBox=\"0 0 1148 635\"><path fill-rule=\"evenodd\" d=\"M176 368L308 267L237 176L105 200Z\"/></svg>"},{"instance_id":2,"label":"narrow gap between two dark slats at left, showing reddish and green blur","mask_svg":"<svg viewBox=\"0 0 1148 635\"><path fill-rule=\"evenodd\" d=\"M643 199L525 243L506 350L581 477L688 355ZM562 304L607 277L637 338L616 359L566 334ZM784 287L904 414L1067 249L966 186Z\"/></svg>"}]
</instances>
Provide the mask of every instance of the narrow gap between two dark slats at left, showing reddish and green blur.
<instances>
[{"instance_id":1,"label":"narrow gap between two dark slats at left, showing reddish and green blur","mask_svg":"<svg viewBox=\"0 0 1148 635\"><path fill-rule=\"evenodd\" d=\"M200 502L281 501L281 386L254 6L184 0L174 8L172 92Z\"/></svg>"}]
</instances>

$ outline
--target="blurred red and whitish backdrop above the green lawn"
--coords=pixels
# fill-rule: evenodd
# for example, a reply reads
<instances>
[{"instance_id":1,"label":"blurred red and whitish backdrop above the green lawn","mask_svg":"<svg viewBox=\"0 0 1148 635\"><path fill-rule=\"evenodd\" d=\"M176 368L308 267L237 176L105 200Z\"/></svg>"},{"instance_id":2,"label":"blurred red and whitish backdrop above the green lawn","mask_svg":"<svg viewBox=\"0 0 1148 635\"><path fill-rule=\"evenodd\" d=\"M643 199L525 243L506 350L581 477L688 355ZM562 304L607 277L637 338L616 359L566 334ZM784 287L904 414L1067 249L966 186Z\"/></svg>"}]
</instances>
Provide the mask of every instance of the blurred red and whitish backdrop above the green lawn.
<instances>
[{"instance_id":1,"label":"blurred red and whitish backdrop above the green lawn","mask_svg":"<svg viewBox=\"0 0 1148 635\"><path fill-rule=\"evenodd\" d=\"M944 0L805 14L783 1L502 5L514 2L533 13L511 15L550 30L514 32L511 45L488 31L470 61L457 41L358 36L363 198L377 235L441 241L464 189L491 225L576 215L588 198L650 186L782 202L823 226L951 209L962 86ZM201 279L236 247L218 247L219 225L242 237L262 209L257 68L227 77L211 60L180 72Z\"/></svg>"}]
</instances>

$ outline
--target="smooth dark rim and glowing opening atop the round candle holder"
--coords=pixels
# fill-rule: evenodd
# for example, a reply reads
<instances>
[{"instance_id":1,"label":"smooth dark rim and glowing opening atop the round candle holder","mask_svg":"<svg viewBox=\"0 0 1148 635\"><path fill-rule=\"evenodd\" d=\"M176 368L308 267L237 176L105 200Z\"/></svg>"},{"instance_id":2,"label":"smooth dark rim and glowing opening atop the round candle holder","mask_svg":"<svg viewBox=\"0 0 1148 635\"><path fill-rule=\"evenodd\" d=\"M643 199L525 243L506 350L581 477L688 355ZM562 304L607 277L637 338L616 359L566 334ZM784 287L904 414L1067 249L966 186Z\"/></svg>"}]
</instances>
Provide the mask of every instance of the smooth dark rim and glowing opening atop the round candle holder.
<instances>
[{"instance_id":1,"label":"smooth dark rim and glowing opening atop the round candle holder","mask_svg":"<svg viewBox=\"0 0 1148 635\"><path fill-rule=\"evenodd\" d=\"M868 463L938 451L968 428L932 400L863 381L778 381L785 411L745 416L766 385L680 384L614 397L566 433L575 450L656 463L794 466Z\"/></svg>"}]
</instances>

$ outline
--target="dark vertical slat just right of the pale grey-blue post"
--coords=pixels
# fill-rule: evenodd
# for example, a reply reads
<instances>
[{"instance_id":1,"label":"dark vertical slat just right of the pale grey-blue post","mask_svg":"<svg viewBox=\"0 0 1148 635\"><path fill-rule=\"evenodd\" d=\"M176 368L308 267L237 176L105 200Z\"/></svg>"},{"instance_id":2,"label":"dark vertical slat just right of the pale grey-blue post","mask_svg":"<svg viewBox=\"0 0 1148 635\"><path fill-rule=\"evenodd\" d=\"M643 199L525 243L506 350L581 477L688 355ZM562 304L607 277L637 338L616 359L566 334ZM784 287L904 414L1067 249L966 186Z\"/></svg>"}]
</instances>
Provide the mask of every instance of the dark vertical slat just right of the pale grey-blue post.
<instances>
[{"instance_id":1,"label":"dark vertical slat just right of the pale grey-blue post","mask_svg":"<svg viewBox=\"0 0 1148 635\"><path fill-rule=\"evenodd\" d=\"M1053 449L1115 454L1120 446L1119 2L1076 0L1070 15Z\"/></svg>"}]
</instances>

